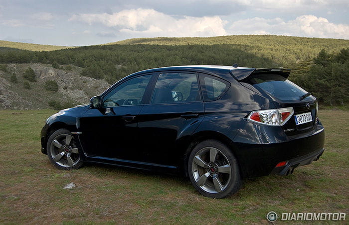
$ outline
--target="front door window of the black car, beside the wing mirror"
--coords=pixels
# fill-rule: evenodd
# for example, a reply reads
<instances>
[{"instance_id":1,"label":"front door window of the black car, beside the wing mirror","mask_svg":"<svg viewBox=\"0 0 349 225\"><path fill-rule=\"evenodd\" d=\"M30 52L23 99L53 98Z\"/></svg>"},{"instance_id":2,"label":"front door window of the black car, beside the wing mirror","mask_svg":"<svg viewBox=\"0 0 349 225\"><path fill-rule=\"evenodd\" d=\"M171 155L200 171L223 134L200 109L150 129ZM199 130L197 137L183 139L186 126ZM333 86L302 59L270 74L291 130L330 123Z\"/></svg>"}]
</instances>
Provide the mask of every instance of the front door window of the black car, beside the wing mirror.
<instances>
[{"instance_id":1,"label":"front door window of the black car, beside the wing mirror","mask_svg":"<svg viewBox=\"0 0 349 225\"><path fill-rule=\"evenodd\" d=\"M120 84L104 97L103 107L141 104L151 78L152 74L149 74L132 78Z\"/></svg>"}]
</instances>

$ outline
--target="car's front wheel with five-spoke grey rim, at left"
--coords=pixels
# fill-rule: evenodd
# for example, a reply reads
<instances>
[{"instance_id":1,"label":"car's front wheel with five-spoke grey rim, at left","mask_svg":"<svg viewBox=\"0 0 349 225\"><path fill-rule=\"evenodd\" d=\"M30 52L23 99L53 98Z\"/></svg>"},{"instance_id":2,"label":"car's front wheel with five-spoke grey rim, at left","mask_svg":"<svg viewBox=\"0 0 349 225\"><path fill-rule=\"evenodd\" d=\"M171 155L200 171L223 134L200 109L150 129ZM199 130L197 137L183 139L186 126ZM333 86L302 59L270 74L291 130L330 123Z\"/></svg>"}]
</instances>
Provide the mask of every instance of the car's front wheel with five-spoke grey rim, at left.
<instances>
[{"instance_id":1,"label":"car's front wheel with five-spoke grey rim, at left","mask_svg":"<svg viewBox=\"0 0 349 225\"><path fill-rule=\"evenodd\" d=\"M79 169L83 165L74 137L67 129L53 132L48 138L46 149L48 159L58 169Z\"/></svg>"}]
</instances>

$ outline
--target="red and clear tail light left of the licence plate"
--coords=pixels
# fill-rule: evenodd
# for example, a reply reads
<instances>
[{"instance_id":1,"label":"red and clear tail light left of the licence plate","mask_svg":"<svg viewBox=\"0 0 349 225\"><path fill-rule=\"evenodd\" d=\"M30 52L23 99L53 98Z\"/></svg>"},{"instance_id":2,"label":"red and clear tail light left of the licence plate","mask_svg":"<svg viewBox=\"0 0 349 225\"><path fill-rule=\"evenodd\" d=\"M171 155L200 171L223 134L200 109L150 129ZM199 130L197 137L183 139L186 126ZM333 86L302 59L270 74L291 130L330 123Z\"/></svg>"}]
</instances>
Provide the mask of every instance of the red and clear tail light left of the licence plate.
<instances>
[{"instance_id":1,"label":"red and clear tail light left of the licence plate","mask_svg":"<svg viewBox=\"0 0 349 225\"><path fill-rule=\"evenodd\" d=\"M293 115L293 108L282 108L282 109L268 109L253 111L247 117L248 120L266 124L269 126L282 126L284 125Z\"/></svg>"}]
</instances>

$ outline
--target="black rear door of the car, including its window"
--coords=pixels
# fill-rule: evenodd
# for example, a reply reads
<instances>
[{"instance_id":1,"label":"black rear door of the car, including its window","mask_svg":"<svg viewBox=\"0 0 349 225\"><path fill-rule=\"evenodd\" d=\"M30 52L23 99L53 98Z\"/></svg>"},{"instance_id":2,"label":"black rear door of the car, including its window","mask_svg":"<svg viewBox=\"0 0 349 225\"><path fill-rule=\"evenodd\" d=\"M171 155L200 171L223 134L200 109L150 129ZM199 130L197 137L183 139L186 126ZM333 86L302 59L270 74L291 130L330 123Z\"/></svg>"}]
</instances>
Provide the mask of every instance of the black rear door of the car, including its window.
<instances>
[{"instance_id":1,"label":"black rear door of the car, including its window","mask_svg":"<svg viewBox=\"0 0 349 225\"><path fill-rule=\"evenodd\" d=\"M149 163L175 166L188 138L200 124L204 108L197 73L160 72L150 103L139 117L138 149Z\"/></svg>"}]
</instances>

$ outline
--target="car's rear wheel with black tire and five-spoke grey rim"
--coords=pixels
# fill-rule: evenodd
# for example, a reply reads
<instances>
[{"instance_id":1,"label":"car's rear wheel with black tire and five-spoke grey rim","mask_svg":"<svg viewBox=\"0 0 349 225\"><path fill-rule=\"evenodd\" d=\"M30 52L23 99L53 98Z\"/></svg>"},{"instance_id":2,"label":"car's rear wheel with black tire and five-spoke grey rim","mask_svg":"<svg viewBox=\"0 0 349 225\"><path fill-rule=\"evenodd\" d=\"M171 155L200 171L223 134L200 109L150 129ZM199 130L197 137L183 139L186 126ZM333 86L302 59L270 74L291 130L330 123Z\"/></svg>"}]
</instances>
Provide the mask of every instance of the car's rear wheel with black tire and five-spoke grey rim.
<instances>
[{"instance_id":1,"label":"car's rear wheel with black tire and five-spoke grey rim","mask_svg":"<svg viewBox=\"0 0 349 225\"><path fill-rule=\"evenodd\" d=\"M221 199L239 191L239 166L231 150L217 140L198 143L188 159L188 175L192 185L203 196Z\"/></svg>"}]
</instances>

